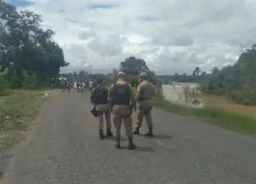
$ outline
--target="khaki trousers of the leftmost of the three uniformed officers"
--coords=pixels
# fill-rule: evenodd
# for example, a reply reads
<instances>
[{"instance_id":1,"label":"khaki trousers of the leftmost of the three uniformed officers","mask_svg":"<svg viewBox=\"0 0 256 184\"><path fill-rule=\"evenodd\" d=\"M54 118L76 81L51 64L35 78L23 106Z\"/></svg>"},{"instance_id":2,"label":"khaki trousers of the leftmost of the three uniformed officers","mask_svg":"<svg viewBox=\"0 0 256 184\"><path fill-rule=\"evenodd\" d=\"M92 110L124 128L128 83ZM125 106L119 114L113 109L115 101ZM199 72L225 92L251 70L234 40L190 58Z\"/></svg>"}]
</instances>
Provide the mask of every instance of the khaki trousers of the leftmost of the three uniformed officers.
<instances>
[{"instance_id":1,"label":"khaki trousers of the leftmost of the three uniformed officers","mask_svg":"<svg viewBox=\"0 0 256 184\"><path fill-rule=\"evenodd\" d=\"M98 111L98 130L103 130L104 115L106 120L106 130L111 130L110 111L107 105L95 106Z\"/></svg>"}]
</instances>

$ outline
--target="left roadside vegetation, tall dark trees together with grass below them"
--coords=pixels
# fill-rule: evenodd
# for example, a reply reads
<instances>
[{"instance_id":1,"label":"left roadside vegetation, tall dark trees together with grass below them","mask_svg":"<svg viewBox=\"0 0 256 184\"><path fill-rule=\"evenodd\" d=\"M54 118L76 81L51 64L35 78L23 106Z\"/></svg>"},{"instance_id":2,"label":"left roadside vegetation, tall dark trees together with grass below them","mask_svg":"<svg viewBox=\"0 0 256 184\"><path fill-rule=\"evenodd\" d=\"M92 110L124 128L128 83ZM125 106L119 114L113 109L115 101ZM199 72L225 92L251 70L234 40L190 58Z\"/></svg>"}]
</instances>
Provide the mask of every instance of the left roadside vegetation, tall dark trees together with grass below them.
<instances>
[{"instance_id":1,"label":"left roadside vegetation, tall dark trees together with grass below them","mask_svg":"<svg viewBox=\"0 0 256 184\"><path fill-rule=\"evenodd\" d=\"M0 0L0 152L26 138L45 99L41 92L69 65L54 31L41 23L40 15Z\"/></svg>"}]
</instances>

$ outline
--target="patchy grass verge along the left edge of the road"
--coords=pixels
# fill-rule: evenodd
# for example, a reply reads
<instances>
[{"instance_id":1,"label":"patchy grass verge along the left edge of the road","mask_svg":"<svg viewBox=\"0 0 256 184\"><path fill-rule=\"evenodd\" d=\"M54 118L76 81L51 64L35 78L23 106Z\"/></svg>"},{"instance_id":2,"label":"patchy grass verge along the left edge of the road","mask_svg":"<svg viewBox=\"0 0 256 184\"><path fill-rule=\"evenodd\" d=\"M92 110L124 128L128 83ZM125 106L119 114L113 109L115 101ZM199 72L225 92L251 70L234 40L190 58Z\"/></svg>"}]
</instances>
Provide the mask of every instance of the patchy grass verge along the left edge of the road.
<instances>
[{"instance_id":1,"label":"patchy grass verge along the left edge of the road","mask_svg":"<svg viewBox=\"0 0 256 184\"><path fill-rule=\"evenodd\" d=\"M10 90L0 97L0 150L26 139L26 128L42 108L44 90Z\"/></svg>"}]
</instances>

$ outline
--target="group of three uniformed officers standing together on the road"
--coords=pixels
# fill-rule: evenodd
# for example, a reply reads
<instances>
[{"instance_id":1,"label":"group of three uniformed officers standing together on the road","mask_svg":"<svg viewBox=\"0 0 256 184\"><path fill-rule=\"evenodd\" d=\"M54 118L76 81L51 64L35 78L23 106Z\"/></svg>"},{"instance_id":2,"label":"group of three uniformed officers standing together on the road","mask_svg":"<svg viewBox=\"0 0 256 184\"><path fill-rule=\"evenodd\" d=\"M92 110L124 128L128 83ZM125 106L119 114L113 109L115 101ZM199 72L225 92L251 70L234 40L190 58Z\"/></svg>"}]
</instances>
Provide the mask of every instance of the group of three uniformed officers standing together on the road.
<instances>
[{"instance_id":1,"label":"group of three uniformed officers standing together on the road","mask_svg":"<svg viewBox=\"0 0 256 184\"><path fill-rule=\"evenodd\" d=\"M140 134L139 130L142 126L143 118L149 131L146 136L153 137L153 122L151 118L151 110L153 104L151 99L154 97L154 85L148 81L147 74L141 73L138 76L139 85L137 93L134 97L130 84L126 82L126 73L118 72L118 81L108 89L104 85L104 79L98 78L97 86L94 87L90 94L90 101L95 107L98 114L98 132L100 140L106 137L112 137L110 114L112 114L115 127L115 148L120 149L121 126L122 121L126 128L126 136L129 140L128 149L134 150L137 146L133 142L133 134ZM133 132L132 128L132 110L137 111L137 122ZM103 116L106 119L106 135L103 132Z\"/></svg>"}]
</instances>

